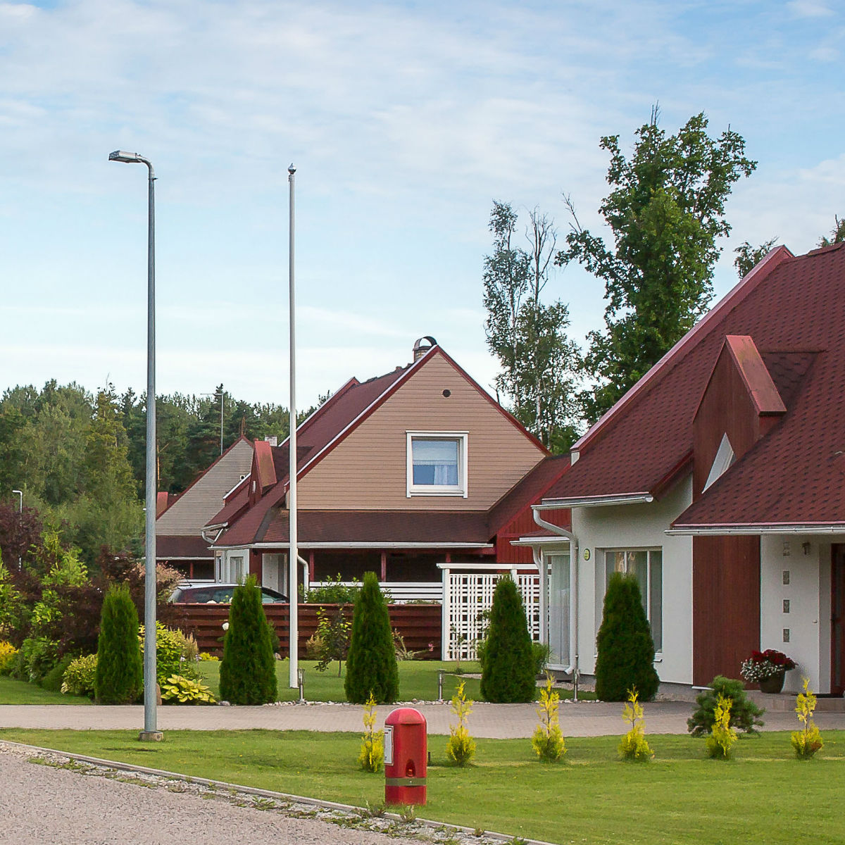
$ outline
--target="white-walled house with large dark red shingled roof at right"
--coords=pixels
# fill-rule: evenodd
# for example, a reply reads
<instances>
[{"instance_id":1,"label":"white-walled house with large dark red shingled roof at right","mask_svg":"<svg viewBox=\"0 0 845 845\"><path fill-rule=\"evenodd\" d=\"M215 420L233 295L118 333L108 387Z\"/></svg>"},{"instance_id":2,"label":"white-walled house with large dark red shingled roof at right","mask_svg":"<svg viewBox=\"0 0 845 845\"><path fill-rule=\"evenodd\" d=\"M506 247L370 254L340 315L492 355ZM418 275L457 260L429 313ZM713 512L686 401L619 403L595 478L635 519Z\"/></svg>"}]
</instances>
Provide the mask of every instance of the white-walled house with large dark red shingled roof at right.
<instances>
[{"instance_id":1,"label":"white-walled house with large dark red shingled roof at right","mask_svg":"<svg viewBox=\"0 0 845 845\"><path fill-rule=\"evenodd\" d=\"M575 444L536 511L571 509L570 532L523 539L552 564L556 647L581 672L622 570L664 683L738 678L774 648L798 662L787 690L845 691L843 326L845 243L779 247Z\"/></svg>"}]
</instances>

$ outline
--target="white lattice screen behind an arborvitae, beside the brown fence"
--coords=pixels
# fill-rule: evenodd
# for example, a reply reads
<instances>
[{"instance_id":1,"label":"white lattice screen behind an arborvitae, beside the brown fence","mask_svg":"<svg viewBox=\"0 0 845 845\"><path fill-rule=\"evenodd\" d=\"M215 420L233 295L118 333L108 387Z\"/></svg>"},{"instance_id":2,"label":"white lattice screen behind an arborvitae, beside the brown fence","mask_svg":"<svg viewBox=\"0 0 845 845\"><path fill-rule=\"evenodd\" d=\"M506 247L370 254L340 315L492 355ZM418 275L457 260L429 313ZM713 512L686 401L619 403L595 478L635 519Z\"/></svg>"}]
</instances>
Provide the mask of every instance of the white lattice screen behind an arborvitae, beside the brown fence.
<instances>
[{"instance_id":1,"label":"white lattice screen behind an arborvitae, beside the brown fence","mask_svg":"<svg viewBox=\"0 0 845 845\"><path fill-rule=\"evenodd\" d=\"M485 611L493 607L498 573L449 572L446 575L444 613L448 636L447 660L475 660L476 646L487 627ZM526 608L532 640L540 638L540 576L517 575L516 588Z\"/></svg>"}]
</instances>

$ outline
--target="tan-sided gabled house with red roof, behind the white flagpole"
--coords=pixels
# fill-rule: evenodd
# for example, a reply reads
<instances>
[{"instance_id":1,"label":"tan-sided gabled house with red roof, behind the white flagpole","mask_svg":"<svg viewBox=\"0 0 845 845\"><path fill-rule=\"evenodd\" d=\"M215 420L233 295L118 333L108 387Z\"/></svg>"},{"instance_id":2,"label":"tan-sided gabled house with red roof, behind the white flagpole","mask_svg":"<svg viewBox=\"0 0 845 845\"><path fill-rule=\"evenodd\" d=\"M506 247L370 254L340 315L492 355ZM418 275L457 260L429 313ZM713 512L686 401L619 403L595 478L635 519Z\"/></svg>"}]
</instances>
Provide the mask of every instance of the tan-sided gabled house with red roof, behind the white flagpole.
<instances>
[{"instance_id":1,"label":"tan-sided gabled house with red roof, behind the white flagpole","mask_svg":"<svg viewBox=\"0 0 845 845\"><path fill-rule=\"evenodd\" d=\"M423 341L430 345L417 341L412 363L350 379L297 428L303 581L374 571L394 597L439 597L444 564L533 566L531 550L510 540L569 456L551 457L433 339ZM215 537L219 581L254 573L287 594L288 442L254 446L248 477L204 531Z\"/></svg>"}]
</instances>

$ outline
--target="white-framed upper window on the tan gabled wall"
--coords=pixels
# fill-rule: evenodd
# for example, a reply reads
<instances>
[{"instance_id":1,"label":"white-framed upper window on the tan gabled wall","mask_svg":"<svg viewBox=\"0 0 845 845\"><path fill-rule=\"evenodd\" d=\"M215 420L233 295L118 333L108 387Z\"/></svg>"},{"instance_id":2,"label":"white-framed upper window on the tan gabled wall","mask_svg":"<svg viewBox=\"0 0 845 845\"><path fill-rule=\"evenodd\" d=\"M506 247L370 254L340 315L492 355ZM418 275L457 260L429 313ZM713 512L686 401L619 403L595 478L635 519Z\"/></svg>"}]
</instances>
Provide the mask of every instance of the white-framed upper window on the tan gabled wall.
<instances>
[{"instance_id":1,"label":"white-framed upper window on the tan gabled wall","mask_svg":"<svg viewBox=\"0 0 845 845\"><path fill-rule=\"evenodd\" d=\"M407 495L466 499L466 431L409 431Z\"/></svg>"}]
</instances>

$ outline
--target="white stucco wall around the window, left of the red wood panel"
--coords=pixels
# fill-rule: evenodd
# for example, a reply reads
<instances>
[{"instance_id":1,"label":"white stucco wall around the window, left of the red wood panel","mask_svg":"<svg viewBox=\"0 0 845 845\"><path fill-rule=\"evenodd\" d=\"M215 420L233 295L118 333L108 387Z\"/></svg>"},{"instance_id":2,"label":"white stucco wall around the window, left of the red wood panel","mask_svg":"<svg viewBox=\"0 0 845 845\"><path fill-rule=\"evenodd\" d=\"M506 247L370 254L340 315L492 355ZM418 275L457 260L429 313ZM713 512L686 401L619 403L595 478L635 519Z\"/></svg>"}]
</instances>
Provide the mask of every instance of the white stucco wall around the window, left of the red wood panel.
<instances>
[{"instance_id":1,"label":"white stucco wall around the window, left of the red wood panel","mask_svg":"<svg viewBox=\"0 0 845 845\"><path fill-rule=\"evenodd\" d=\"M596 665L596 634L603 595L597 595L596 566L608 548L662 549L663 650L655 668L662 681L692 684L692 538L664 532L692 502L692 477L660 501L613 507L575 508L572 529L578 537L578 638L580 668L591 674ZM590 559L584 559L589 549Z\"/></svg>"}]
</instances>

